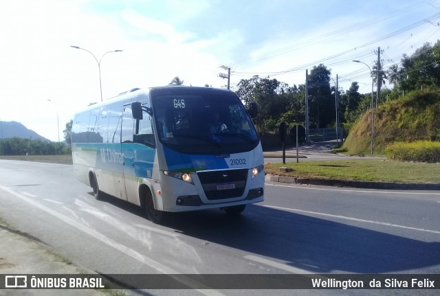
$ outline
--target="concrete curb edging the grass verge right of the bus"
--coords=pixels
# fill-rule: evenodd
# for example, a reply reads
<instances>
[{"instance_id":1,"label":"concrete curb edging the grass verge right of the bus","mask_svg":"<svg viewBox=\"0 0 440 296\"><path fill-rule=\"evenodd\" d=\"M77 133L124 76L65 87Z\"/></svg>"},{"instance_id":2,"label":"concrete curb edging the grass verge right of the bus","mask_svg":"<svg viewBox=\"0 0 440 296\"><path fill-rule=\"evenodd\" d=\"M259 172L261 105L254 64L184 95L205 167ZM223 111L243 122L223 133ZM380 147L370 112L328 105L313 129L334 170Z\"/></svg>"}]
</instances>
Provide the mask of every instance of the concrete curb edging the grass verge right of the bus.
<instances>
[{"instance_id":1,"label":"concrete curb edging the grass verge right of the bus","mask_svg":"<svg viewBox=\"0 0 440 296\"><path fill-rule=\"evenodd\" d=\"M281 177L267 174L266 182L322 185L334 187L355 187L365 189L384 189L384 190L440 190L439 183L391 183L391 182L372 182L372 181L345 181L333 179L310 179L297 177Z\"/></svg>"}]
</instances>

